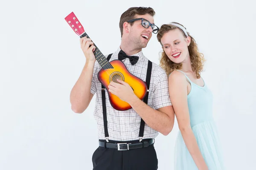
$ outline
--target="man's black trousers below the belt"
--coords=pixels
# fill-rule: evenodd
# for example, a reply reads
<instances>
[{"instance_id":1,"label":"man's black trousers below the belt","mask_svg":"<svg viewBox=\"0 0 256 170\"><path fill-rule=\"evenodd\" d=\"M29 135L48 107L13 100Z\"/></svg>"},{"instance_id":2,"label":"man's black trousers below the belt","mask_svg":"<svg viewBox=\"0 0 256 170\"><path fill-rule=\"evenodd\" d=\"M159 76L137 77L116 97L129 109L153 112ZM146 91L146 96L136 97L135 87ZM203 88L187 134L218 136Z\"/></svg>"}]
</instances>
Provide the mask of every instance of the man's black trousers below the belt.
<instances>
[{"instance_id":1,"label":"man's black trousers below the belt","mask_svg":"<svg viewBox=\"0 0 256 170\"><path fill-rule=\"evenodd\" d=\"M93 153L93 170L157 170L154 144L148 147L117 150L98 147Z\"/></svg>"}]
</instances>

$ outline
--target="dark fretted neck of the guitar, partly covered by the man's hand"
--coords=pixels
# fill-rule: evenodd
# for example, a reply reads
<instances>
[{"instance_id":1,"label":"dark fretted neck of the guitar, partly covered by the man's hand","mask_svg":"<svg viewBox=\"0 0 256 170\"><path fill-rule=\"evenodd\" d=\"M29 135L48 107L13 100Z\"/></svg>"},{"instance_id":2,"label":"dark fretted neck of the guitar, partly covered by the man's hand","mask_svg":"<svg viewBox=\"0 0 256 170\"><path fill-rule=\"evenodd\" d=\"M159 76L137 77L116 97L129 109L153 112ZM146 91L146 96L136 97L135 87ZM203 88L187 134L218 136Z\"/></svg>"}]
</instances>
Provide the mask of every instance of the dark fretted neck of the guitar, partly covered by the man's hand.
<instances>
[{"instance_id":1,"label":"dark fretted neck of the guitar, partly covered by the man's hand","mask_svg":"<svg viewBox=\"0 0 256 170\"><path fill-rule=\"evenodd\" d=\"M80 35L80 38L87 37L90 38L85 32ZM96 58L96 60L99 62L99 65L102 67L103 70L113 68L113 66L108 62L106 57L102 54L101 51L99 51L99 48L93 43L93 45L96 47L93 54Z\"/></svg>"}]
</instances>

